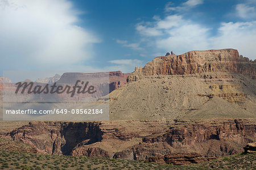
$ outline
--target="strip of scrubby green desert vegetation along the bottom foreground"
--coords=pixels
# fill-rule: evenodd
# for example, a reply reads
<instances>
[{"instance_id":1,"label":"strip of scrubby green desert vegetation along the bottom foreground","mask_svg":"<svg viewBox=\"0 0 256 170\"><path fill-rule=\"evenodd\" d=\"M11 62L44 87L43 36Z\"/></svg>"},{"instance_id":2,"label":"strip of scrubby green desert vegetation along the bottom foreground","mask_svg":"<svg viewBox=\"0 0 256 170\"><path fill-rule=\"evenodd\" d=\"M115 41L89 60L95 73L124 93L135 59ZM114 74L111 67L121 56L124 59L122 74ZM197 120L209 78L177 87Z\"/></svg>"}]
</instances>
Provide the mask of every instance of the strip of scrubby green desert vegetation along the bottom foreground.
<instances>
[{"instance_id":1,"label":"strip of scrubby green desert vegetation along the bottom foreground","mask_svg":"<svg viewBox=\"0 0 256 170\"><path fill-rule=\"evenodd\" d=\"M0 151L0 169L255 169L256 154L237 154L187 166L147 161Z\"/></svg>"}]
</instances>

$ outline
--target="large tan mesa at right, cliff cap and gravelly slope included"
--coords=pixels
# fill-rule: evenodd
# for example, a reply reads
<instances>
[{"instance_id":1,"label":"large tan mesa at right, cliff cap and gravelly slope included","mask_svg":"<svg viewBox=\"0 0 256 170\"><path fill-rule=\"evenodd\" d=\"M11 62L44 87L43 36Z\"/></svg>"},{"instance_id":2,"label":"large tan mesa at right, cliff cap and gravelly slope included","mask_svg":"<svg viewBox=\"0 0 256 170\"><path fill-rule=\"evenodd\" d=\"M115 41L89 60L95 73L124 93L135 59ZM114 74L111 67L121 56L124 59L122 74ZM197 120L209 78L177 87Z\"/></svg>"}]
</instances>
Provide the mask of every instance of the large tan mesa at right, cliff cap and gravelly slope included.
<instances>
[{"instance_id":1,"label":"large tan mesa at right, cliff cap and gravelly slope included","mask_svg":"<svg viewBox=\"0 0 256 170\"><path fill-rule=\"evenodd\" d=\"M110 93L110 118L254 118L255 75L235 49L156 57Z\"/></svg>"}]
</instances>

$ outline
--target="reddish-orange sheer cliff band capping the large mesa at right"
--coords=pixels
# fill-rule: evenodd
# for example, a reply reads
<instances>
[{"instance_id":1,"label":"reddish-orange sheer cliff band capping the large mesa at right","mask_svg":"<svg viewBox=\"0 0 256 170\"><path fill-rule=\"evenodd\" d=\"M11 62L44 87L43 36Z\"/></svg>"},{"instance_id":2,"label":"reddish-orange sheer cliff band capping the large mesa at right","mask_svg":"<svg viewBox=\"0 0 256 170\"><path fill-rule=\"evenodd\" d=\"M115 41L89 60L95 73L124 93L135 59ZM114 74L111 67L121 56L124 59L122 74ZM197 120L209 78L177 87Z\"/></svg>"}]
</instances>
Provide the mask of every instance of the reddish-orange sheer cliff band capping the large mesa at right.
<instances>
[{"instance_id":1,"label":"reddish-orange sheer cliff band capping the large mesa at right","mask_svg":"<svg viewBox=\"0 0 256 170\"><path fill-rule=\"evenodd\" d=\"M144 68L136 68L127 81L137 81L143 76L150 75L203 72L241 73L255 78L256 62L239 56L236 49L189 51L183 55L155 57Z\"/></svg>"}]
</instances>

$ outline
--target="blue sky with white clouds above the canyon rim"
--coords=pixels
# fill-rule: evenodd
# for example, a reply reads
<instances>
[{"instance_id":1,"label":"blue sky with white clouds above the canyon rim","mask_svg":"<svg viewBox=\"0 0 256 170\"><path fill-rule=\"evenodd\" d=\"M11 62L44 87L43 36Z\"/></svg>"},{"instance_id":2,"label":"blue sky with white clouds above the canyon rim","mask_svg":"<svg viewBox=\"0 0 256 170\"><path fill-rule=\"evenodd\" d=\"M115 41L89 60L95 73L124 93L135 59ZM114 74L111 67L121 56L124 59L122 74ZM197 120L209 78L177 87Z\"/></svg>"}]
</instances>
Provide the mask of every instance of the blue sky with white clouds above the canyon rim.
<instances>
[{"instance_id":1,"label":"blue sky with white clouds above the canyon rim","mask_svg":"<svg viewBox=\"0 0 256 170\"><path fill-rule=\"evenodd\" d=\"M133 72L174 51L256 59L256 1L0 0L0 73Z\"/></svg>"}]
</instances>

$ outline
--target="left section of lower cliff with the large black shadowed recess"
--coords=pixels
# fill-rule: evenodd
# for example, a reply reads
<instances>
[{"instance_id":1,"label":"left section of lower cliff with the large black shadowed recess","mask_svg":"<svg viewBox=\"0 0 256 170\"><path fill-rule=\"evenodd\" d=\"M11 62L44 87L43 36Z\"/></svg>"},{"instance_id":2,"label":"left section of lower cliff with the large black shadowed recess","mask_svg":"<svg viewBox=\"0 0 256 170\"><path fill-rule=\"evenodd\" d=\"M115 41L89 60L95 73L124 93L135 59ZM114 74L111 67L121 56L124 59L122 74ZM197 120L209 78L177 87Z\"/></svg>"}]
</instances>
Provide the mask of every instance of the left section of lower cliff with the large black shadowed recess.
<instances>
[{"instance_id":1,"label":"left section of lower cliff with the large black shadowed recess","mask_svg":"<svg viewBox=\"0 0 256 170\"><path fill-rule=\"evenodd\" d=\"M38 153L70 155L80 144L101 141L99 125L96 122L31 122L8 135L34 146Z\"/></svg>"}]
</instances>

